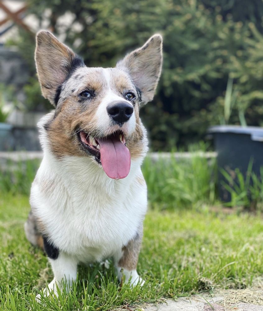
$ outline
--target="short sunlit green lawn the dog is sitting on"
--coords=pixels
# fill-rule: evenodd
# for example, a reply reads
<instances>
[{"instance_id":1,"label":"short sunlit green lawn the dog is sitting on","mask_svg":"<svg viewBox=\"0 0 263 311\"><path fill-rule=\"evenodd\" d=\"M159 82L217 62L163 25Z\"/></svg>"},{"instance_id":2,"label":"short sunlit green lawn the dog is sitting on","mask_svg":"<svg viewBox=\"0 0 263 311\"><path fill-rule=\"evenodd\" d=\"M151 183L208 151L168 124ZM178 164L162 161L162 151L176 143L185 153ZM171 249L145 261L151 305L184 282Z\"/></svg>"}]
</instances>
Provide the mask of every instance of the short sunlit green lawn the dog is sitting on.
<instances>
[{"instance_id":1,"label":"short sunlit green lawn the dog is sitting on","mask_svg":"<svg viewBox=\"0 0 263 311\"><path fill-rule=\"evenodd\" d=\"M70 294L35 302L52 272L41 250L25 239L25 195L0 195L0 310L130 309L163 297L215 287L244 288L263 273L261 216L197 211L149 211L138 271L143 288L120 288L113 266L80 267Z\"/></svg>"}]
</instances>

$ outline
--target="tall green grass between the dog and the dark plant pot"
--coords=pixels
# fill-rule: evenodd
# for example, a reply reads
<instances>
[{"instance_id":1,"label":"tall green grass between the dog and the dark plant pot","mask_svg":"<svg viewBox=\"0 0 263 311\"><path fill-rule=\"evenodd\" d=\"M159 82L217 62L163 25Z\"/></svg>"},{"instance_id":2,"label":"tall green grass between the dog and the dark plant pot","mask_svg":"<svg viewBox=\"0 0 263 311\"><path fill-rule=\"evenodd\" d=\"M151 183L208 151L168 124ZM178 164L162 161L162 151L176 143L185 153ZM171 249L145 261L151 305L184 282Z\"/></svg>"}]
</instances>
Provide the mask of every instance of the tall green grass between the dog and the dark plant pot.
<instances>
[{"instance_id":1,"label":"tall green grass between the dog and the dark plant pot","mask_svg":"<svg viewBox=\"0 0 263 311\"><path fill-rule=\"evenodd\" d=\"M198 208L215 201L215 159L192 153L190 158L159 158L153 162L146 157L142 166L151 207Z\"/></svg>"}]
</instances>

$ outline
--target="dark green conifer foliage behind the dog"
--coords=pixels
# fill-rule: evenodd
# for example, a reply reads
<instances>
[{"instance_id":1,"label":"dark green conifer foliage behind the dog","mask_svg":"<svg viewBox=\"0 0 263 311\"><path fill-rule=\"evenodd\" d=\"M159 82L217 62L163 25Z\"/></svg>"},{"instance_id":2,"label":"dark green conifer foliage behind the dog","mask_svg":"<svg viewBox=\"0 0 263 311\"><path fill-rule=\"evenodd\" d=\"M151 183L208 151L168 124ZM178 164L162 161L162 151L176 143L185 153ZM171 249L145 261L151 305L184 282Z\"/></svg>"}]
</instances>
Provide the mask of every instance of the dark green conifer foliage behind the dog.
<instances>
[{"instance_id":1,"label":"dark green conifer foliage behind the dog","mask_svg":"<svg viewBox=\"0 0 263 311\"><path fill-rule=\"evenodd\" d=\"M154 150L187 145L222 122L229 78L236 96L229 122L243 116L248 125L263 125L262 0L28 2L39 28L60 35L87 66L114 66L153 33L164 36L158 90L141 109ZM20 50L33 60L34 42L24 38Z\"/></svg>"}]
</instances>

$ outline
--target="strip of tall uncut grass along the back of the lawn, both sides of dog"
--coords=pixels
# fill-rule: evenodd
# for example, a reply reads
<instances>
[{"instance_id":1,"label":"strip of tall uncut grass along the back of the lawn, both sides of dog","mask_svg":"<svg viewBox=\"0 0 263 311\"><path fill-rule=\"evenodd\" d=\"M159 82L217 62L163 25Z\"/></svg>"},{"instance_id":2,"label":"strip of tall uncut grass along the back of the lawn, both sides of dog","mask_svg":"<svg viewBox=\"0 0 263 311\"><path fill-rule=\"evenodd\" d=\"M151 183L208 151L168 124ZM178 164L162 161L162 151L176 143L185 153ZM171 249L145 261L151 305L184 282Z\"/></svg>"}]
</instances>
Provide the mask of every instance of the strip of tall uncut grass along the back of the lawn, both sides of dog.
<instances>
[{"instance_id":1,"label":"strip of tall uncut grass along the back of the lawn, both sides of dog","mask_svg":"<svg viewBox=\"0 0 263 311\"><path fill-rule=\"evenodd\" d=\"M200 208L212 205L218 199L216 159L207 159L194 150L190 152L190 158L176 159L173 153L168 159L146 157L142 172L151 208ZM257 176L252 171L252 164L251 160L245 176L238 169L235 169L234 178L220 170L226 179L223 186L231 194L231 202L226 205L263 211L263 167ZM0 193L28 195L38 167L39 160L7 161L0 166Z\"/></svg>"}]
</instances>

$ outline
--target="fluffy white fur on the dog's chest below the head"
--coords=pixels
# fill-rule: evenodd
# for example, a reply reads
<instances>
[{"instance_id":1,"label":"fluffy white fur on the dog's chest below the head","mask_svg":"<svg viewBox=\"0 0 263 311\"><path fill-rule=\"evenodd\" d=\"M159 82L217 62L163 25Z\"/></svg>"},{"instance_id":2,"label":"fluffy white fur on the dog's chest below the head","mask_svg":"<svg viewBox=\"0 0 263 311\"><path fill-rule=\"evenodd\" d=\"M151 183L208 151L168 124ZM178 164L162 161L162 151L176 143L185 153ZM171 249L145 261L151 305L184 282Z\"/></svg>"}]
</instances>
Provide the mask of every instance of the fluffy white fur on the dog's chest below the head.
<instances>
[{"instance_id":1,"label":"fluffy white fur on the dog's chest below the head","mask_svg":"<svg viewBox=\"0 0 263 311\"><path fill-rule=\"evenodd\" d=\"M125 179L109 179L84 157L45 154L30 203L55 246L80 262L100 261L132 239L147 208L141 159Z\"/></svg>"}]
</instances>

